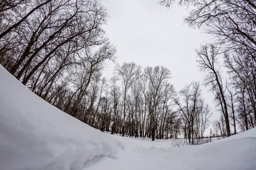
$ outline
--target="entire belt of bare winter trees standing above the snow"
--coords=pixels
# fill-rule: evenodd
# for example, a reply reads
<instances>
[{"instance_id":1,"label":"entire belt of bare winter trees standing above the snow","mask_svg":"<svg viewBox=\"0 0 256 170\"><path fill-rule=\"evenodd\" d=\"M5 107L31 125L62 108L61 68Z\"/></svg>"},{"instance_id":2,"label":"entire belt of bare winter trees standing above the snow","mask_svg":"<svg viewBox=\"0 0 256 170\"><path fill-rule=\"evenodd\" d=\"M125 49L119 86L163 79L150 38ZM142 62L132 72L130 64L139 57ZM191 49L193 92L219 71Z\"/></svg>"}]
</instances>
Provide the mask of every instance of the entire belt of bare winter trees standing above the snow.
<instances>
[{"instance_id":1,"label":"entire belt of bare winter trees standing above the snow","mask_svg":"<svg viewBox=\"0 0 256 170\"><path fill-rule=\"evenodd\" d=\"M102 76L117 48L104 25L108 10L98 0L0 1L0 64L24 86L61 111L111 134L186 138L193 145L212 124L217 136L256 126L256 3L236 1L159 1L192 7L185 23L212 35L196 49L204 82L176 91L171 69L115 63ZM225 73L225 74L224 74ZM220 118L202 87L214 95Z\"/></svg>"}]
</instances>

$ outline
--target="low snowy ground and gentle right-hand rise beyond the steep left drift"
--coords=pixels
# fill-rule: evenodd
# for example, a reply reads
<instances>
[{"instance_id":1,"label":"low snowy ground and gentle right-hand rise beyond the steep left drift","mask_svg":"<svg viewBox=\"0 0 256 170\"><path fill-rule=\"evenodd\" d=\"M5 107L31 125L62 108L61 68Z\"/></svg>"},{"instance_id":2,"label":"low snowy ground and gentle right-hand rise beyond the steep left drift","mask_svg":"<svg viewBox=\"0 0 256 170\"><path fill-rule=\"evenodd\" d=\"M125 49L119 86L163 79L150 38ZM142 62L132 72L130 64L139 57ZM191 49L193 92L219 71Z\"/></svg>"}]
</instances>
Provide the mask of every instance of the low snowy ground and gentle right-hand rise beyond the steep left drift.
<instances>
[{"instance_id":1,"label":"low snowy ground and gentle right-hand rise beyond the steep left drift","mask_svg":"<svg viewBox=\"0 0 256 170\"><path fill-rule=\"evenodd\" d=\"M197 146L169 147L172 140L154 142L113 135L126 144L118 159L92 161L86 170L254 170L256 167L256 129L220 141Z\"/></svg>"}]
</instances>

